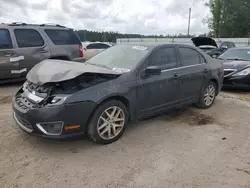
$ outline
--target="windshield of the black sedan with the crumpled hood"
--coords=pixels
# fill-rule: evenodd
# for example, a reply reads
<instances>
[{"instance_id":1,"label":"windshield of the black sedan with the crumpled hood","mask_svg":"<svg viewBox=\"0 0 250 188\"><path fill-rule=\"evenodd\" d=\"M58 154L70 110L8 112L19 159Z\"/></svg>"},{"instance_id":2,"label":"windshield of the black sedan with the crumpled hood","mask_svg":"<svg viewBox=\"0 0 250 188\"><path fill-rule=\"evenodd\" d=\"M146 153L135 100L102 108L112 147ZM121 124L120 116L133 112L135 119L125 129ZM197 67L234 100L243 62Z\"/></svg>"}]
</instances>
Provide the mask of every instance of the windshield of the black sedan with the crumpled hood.
<instances>
[{"instance_id":1,"label":"windshield of the black sedan with the crumpled hood","mask_svg":"<svg viewBox=\"0 0 250 188\"><path fill-rule=\"evenodd\" d=\"M116 45L93 56L86 63L129 71L139 63L148 51L148 48L144 46Z\"/></svg>"}]
</instances>

